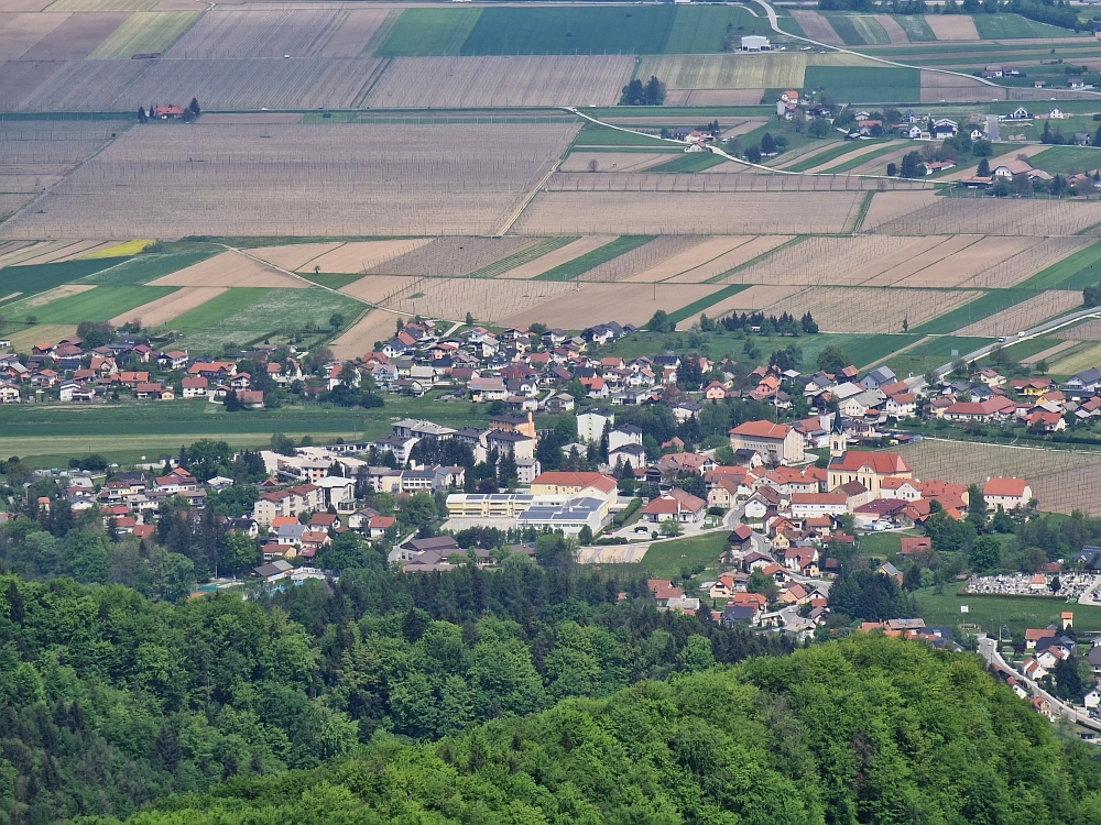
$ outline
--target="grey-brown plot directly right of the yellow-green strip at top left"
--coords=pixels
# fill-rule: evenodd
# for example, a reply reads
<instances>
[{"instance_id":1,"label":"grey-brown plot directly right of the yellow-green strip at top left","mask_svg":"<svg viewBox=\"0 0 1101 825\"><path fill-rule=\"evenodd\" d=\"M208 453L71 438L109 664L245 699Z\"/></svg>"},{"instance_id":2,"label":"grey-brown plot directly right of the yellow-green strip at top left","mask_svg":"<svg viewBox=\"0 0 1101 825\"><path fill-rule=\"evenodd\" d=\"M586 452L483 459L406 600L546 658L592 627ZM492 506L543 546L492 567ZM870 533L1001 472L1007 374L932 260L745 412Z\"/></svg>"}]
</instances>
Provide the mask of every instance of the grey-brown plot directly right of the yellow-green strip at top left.
<instances>
[{"instance_id":1,"label":"grey-brown plot directly right of the yellow-green strip at top left","mask_svg":"<svg viewBox=\"0 0 1101 825\"><path fill-rule=\"evenodd\" d=\"M342 22L339 9L219 8L206 12L165 56L173 59L317 57Z\"/></svg>"}]
</instances>

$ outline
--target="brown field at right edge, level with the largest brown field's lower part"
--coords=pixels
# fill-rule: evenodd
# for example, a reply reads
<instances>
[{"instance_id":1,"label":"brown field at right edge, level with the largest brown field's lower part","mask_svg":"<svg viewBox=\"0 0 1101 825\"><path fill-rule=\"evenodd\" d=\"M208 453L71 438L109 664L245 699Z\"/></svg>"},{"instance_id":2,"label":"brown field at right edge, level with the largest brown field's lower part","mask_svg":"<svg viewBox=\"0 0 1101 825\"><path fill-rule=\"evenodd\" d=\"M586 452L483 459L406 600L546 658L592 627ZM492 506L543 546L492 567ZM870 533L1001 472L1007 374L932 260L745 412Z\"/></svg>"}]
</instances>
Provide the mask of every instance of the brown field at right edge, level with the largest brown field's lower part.
<instances>
[{"instance_id":1,"label":"brown field at right edge, level with the largest brown field's lower part","mask_svg":"<svg viewBox=\"0 0 1101 825\"><path fill-rule=\"evenodd\" d=\"M959 232L1067 237L1101 222L1101 201L936 198L920 211L912 212L882 221L875 231L896 235ZM866 219L863 229L869 229Z\"/></svg>"}]
</instances>

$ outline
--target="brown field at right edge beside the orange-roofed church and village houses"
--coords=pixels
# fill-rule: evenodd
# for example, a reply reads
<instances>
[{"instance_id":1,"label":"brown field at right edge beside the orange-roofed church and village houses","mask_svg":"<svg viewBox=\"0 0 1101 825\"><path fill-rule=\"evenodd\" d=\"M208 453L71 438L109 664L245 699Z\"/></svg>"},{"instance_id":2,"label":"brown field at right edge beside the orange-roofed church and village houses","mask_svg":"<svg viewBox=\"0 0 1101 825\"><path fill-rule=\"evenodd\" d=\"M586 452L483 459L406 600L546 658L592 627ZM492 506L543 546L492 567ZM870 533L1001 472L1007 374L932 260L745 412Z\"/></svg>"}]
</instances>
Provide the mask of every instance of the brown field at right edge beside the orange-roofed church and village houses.
<instances>
[{"instance_id":1,"label":"brown field at right edge beside the orange-roofed church and village houses","mask_svg":"<svg viewBox=\"0 0 1101 825\"><path fill-rule=\"evenodd\" d=\"M1101 453L929 438L897 449L918 479L953 484L981 484L992 475L1027 479L1042 510L1101 513Z\"/></svg>"}]
</instances>

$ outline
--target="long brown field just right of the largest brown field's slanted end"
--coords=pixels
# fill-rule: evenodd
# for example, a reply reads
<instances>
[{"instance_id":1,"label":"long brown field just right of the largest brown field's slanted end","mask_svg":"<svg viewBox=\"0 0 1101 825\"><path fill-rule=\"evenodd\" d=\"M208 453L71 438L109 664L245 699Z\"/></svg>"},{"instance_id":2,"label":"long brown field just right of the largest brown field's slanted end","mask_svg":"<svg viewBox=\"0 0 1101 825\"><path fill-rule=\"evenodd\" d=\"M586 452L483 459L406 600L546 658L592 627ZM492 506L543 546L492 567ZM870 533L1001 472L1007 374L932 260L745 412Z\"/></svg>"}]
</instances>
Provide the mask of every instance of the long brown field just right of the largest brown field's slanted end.
<instances>
[{"instance_id":1,"label":"long brown field just right of the largest brown field's slanted end","mask_svg":"<svg viewBox=\"0 0 1101 825\"><path fill-rule=\"evenodd\" d=\"M535 196L513 230L536 235L843 232L860 202L861 194L852 191L550 191Z\"/></svg>"}]
</instances>

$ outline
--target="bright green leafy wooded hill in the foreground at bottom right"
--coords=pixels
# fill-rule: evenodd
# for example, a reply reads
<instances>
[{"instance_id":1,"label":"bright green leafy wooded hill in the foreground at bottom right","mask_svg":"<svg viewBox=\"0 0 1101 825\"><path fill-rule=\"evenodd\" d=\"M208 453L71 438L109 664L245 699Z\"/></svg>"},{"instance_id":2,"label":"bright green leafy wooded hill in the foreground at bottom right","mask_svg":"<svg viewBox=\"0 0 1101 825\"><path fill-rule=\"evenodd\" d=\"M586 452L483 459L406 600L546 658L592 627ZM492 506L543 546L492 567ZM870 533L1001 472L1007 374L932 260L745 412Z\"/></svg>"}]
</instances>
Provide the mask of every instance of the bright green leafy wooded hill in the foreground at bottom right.
<instances>
[{"instance_id":1,"label":"bright green leafy wooded hill in the foreground at bottom right","mask_svg":"<svg viewBox=\"0 0 1101 825\"><path fill-rule=\"evenodd\" d=\"M975 660L861 637L437 744L377 738L131 822L1084 823L1099 788L1084 746L1058 743Z\"/></svg>"}]
</instances>

